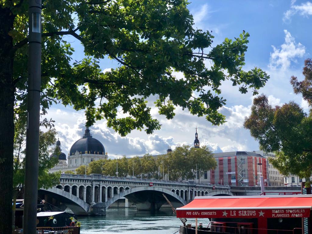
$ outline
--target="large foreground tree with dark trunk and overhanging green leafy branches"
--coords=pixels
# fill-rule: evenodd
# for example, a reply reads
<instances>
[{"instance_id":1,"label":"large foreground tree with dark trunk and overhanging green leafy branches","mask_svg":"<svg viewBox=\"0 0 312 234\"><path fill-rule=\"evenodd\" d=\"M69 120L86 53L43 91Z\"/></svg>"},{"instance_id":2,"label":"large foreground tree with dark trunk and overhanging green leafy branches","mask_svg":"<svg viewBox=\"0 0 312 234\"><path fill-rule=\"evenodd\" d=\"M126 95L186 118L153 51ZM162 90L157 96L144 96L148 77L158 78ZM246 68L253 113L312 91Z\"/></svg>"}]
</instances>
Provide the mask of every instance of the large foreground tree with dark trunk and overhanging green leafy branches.
<instances>
[{"instance_id":1,"label":"large foreground tree with dark trunk and overhanging green leafy branches","mask_svg":"<svg viewBox=\"0 0 312 234\"><path fill-rule=\"evenodd\" d=\"M0 3L0 220L8 221L0 222L0 233L8 234L14 111L26 116L28 1ZM168 119L180 106L222 124L224 116L217 111L226 102L222 81L239 85L242 93L251 88L255 94L268 76L259 68L242 70L248 33L214 46L211 32L193 27L187 5L187 0L44 1L41 113L61 102L85 110L87 126L105 118L122 136L133 129L150 134L161 126L146 103L154 95L159 114ZM84 47L81 61L71 57L73 40ZM103 58L119 66L103 73ZM120 110L127 116L119 118Z\"/></svg>"}]
</instances>

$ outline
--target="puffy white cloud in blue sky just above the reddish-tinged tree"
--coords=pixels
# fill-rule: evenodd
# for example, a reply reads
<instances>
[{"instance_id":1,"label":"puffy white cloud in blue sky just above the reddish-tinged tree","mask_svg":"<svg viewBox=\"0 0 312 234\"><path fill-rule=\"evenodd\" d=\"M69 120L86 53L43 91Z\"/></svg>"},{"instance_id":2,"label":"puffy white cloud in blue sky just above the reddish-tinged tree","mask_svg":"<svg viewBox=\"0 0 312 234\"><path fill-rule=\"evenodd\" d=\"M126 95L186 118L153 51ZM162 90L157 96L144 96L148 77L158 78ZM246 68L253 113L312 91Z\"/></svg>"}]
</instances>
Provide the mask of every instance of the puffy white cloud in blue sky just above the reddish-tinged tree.
<instances>
[{"instance_id":1,"label":"puffy white cloud in blue sky just above the reddish-tinged tree","mask_svg":"<svg viewBox=\"0 0 312 234\"><path fill-rule=\"evenodd\" d=\"M291 36L290 32L284 30L285 42L280 49L273 47L273 53L270 56L269 68L280 68L286 70L290 67L290 61L296 62L296 57L303 57L305 55L305 46L300 42L296 44L295 38Z\"/></svg>"}]
</instances>

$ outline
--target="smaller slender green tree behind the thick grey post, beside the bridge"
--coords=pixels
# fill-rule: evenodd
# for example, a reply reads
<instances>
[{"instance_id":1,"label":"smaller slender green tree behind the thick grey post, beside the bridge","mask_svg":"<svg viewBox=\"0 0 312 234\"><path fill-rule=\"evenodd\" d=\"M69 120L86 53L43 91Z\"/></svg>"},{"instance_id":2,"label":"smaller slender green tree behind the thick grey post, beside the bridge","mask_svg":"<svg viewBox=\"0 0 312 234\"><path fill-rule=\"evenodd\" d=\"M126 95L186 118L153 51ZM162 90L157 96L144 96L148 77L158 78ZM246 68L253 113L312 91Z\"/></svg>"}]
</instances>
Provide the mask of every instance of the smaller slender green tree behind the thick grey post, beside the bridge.
<instances>
[{"instance_id":1,"label":"smaller slender green tree behind the thick grey post, beside the bridge","mask_svg":"<svg viewBox=\"0 0 312 234\"><path fill-rule=\"evenodd\" d=\"M26 145L26 124L16 120L14 131L14 154L13 154L13 207L12 226L15 222L16 198L24 192L25 178L25 145ZM39 171L38 188L51 188L60 183L60 172L49 173L49 169L58 163L58 158L50 157L51 154L59 155L59 148L55 147L56 131L50 129L39 133Z\"/></svg>"}]
</instances>

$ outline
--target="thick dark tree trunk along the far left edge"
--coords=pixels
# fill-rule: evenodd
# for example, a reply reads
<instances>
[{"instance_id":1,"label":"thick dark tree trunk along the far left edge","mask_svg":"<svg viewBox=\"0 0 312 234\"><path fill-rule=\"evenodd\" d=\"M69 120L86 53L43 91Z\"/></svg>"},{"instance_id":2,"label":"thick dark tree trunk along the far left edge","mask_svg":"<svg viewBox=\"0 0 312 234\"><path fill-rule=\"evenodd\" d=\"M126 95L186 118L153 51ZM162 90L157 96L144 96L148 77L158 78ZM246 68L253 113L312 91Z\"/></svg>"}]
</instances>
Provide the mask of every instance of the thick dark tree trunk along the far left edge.
<instances>
[{"instance_id":1,"label":"thick dark tree trunk along the far left edge","mask_svg":"<svg viewBox=\"0 0 312 234\"><path fill-rule=\"evenodd\" d=\"M14 85L12 37L14 16L0 7L0 233L12 233Z\"/></svg>"}]
</instances>

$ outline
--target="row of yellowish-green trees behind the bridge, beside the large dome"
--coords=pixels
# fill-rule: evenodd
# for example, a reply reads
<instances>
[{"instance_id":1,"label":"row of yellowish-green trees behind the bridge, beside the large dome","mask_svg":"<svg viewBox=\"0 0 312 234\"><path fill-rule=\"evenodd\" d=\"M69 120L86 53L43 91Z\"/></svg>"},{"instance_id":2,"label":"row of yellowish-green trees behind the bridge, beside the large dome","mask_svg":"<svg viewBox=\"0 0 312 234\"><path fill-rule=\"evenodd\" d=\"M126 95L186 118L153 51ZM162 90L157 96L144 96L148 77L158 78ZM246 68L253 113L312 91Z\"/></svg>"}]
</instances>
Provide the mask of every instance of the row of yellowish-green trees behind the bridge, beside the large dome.
<instances>
[{"instance_id":1,"label":"row of yellowish-green trees behind the bridge, beside the large dome","mask_svg":"<svg viewBox=\"0 0 312 234\"><path fill-rule=\"evenodd\" d=\"M143 157L126 158L124 155L122 158L118 158L118 176L165 179L163 175L168 175L169 172L170 180L177 180L178 178L188 180L196 178L196 168L199 178L204 174L204 171L214 169L216 166L217 162L208 147L193 148L183 145L168 154L157 157L145 154ZM117 159L100 159L87 166L88 175L96 173L116 176L116 172ZM76 174L85 174L85 165L78 167Z\"/></svg>"}]
</instances>

